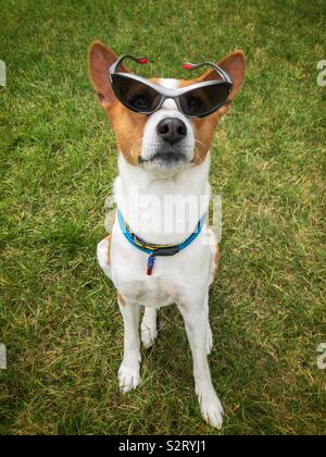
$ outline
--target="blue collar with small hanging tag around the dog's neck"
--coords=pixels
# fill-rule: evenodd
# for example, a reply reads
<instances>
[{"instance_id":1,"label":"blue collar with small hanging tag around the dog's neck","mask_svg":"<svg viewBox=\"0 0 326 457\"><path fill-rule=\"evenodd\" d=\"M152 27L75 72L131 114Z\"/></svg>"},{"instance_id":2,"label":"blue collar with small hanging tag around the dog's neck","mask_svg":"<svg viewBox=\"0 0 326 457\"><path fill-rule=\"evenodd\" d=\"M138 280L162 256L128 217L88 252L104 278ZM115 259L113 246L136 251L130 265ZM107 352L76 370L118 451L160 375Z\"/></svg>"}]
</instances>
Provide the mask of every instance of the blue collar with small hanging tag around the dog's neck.
<instances>
[{"instance_id":1,"label":"blue collar with small hanging tag around the dog's neck","mask_svg":"<svg viewBox=\"0 0 326 457\"><path fill-rule=\"evenodd\" d=\"M186 249L191 243L198 237L200 234L204 221L205 214L200 219L197 224L196 231L181 244L179 245L152 245L146 243L143 239L139 238L134 232L131 232L129 225L125 222L121 210L117 210L117 220L121 227L122 233L125 235L127 240L138 249L142 250L142 252L149 254L149 259L147 262L147 274L150 276L153 271L155 257L156 256L175 256L180 250Z\"/></svg>"}]
</instances>

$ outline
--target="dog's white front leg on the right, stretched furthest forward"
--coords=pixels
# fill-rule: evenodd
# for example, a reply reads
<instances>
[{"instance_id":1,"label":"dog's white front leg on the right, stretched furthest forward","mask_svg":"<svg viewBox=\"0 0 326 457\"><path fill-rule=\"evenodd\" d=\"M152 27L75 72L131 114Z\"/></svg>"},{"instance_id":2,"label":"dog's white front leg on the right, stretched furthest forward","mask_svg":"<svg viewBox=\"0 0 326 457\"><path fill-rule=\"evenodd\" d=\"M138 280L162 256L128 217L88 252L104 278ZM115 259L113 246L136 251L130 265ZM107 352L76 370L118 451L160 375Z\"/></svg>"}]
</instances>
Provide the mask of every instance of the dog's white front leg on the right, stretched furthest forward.
<instances>
[{"instance_id":1,"label":"dog's white front leg on the right, stretched furthest forward","mask_svg":"<svg viewBox=\"0 0 326 457\"><path fill-rule=\"evenodd\" d=\"M208 362L208 312L205 300L178 306L184 317L193 359L196 394L202 417L212 427L222 428L223 407L211 380Z\"/></svg>"}]
</instances>

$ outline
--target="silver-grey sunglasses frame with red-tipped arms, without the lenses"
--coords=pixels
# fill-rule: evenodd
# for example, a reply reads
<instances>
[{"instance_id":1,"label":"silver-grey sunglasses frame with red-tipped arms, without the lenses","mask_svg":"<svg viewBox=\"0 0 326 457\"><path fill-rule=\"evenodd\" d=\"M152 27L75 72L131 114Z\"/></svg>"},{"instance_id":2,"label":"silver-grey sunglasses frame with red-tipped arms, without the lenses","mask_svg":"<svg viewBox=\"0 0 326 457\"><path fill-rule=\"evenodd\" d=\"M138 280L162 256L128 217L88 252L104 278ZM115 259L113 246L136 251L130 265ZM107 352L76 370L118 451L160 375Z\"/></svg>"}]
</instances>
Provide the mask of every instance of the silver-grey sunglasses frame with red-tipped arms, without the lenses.
<instances>
[{"instance_id":1,"label":"silver-grey sunglasses frame with red-tipped arms, without the lenses","mask_svg":"<svg viewBox=\"0 0 326 457\"><path fill-rule=\"evenodd\" d=\"M198 69L198 67L204 66L204 65L211 66L222 77L222 81L210 79L210 81L204 81L204 82L201 82L201 83L191 84L189 86L180 87L180 88L177 88L177 89L170 89L170 88L166 88L166 87L159 86L158 84L154 84L151 81L149 81L149 79L147 79L145 77L135 75L133 73L117 72L116 70L117 70L118 65L122 63L122 61L124 59L127 59L127 58L128 59L131 59L133 61L135 61L137 63L147 63L148 62L148 59L147 58L143 58L143 57L141 57L141 58L135 58L135 57L129 55L129 54L123 54L123 55L121 55L110 66L110 69L109 69L109 79L110 79L110 83L112 85L113 91L114 91L114 77L115 76L122 76L123 78L133 79L133 81L136 81L138 83L141 83L145 86L148 86L151 89L155 90L161 96L158 106L153 110L150 110L150 111L141 111L141 110L138 110L138 109L133 109L129 106L126 106L124 103L124 101L118 97L118 95L114 92L116 95L117 99L124 106L126 106L126 108L128 108L129 110L135 111L135 112L137 112L139 114L146 114L146 115L153 114L154 112L156 112L158 110L160 110L162 108L162 104L164 103L165 100L173 99L175 101L178 110L183 114L185 114L187 118L190 118L190 119L193 119L193 118L204 118L204 116L210 115L213 112L217 111L221 107L223 107L224 104L226 104L226 102L225 103L220 103L218 106L213 107L211 110L205 111L203 114L200 114L200 115L190 115L190 114L185 113L185 111L183 110L183 107L181 107L181 103L180 103L180 100L179 100L180 97L183 95L189 92L189 91L195 90L195 89L199 89L199 88L203 88L203 87L209 87L209 86L226 86L227 89L228 89L228 95L233 91L234 84L233 84L231 78L229 77L229 75L224 70L222 70L218 65L216 65L216 64L214 64L212 62L202 62L202 63L198 63L198 64L185 63L183 66L185 69L189 69L189 70Z\"/></svg>"}]
</instances>

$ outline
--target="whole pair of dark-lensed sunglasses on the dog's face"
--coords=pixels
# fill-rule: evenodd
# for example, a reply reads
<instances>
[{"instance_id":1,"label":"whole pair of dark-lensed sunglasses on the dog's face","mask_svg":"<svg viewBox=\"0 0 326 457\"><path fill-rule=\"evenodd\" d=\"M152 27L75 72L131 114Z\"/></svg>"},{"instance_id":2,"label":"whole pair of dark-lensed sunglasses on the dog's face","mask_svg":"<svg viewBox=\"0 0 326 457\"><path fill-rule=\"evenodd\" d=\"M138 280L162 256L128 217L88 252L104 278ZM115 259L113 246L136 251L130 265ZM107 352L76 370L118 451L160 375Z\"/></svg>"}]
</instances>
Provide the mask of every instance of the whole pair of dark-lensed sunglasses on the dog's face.
<instances>
[{"instance_id":1,"label":"whole pair of dark-lensed sunglasses on the dog's face","mask_svg":"<svg viewBox=\"0 0 326 457\"><path fill-rule=\"evenodd\" d=\"M109 69L109 78L116 98L126 108L140 114L152 114L160 110L166 99L173 99L178 110L187 118L203 118L226 104L234 87L229 75L211 62L198 64L187 62L183 63L183 67L193 70L208 65L215 70L222 81L211 79L168 89L141 76L117 72L124 59L131 59L141 64L148 63L148 59L123 54Z\"/></svg>"}]
</instances>

